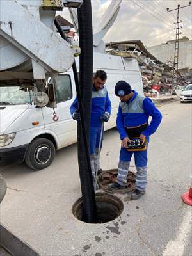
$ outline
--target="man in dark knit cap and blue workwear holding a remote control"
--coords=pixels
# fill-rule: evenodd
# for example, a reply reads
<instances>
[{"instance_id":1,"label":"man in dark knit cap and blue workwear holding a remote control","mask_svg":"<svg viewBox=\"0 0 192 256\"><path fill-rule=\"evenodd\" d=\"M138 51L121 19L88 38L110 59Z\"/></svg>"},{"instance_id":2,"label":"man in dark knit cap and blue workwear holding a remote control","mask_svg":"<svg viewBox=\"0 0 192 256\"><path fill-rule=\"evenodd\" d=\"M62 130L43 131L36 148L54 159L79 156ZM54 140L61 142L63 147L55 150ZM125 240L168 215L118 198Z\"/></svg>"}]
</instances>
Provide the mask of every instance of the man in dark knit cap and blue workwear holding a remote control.
<instances>
[{"instance_id":1,"label":"man in dark knit cap and blue workwear holding a remote control","mask_svg":"<svg viewBox=\"0 0 192 256\"><path fill-rule=\"evenodd\" d=\"M147 149L144 151L127 151L127 143L131 138L139 137L140 140L147 139L156 132L161 123L162 115L154 103L148 98L139 95L131 89L129 83L118 81L115 86L115 95L120 98L116 125L122 140L120 160L118 163L117 182L109 184L109 189L124 189L127 186L127 174L131 157L134 154L136 165L136 189L134 189L132 200L139 199L145 194L147 186ZM150 124L148 118L152 116Z\"/></svg>"}]
</instances>

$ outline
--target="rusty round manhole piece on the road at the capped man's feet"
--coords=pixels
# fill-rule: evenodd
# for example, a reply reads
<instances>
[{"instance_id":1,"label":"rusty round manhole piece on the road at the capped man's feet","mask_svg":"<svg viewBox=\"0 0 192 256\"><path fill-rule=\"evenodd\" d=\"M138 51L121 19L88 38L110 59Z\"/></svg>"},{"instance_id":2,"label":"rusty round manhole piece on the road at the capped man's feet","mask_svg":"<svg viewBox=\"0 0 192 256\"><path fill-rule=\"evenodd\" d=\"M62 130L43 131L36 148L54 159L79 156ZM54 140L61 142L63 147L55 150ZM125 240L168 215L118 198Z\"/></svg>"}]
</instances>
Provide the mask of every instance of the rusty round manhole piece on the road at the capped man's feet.
<instances>
[{"instance_id":1,"label":"rusty round manhole piece on the road at the capped man's feet","mask_svg":"<svg viewBox=\"0 0 192 256\"><path fill-rule=\"evenodd\" d=\"M118 169L111 169L102 171L98 177L98 184L100 189L106 189L106 187L117 180ZM113 193L128 193L135 189L136 174L129 171L127 175L127 188L120 190L113 190Z\"/></svg>"}]
</instances>

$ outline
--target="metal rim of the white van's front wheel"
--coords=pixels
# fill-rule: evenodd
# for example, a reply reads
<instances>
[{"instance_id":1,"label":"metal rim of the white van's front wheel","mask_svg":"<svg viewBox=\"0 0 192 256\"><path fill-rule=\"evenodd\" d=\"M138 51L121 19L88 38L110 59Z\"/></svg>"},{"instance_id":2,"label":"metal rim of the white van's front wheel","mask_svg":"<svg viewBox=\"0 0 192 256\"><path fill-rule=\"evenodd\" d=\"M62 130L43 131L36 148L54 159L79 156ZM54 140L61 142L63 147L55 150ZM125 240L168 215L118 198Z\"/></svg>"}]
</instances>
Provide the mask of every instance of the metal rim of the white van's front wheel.
<instances>
[{"instance_id":1,"label":"metal rim of the white van's front wheel","mask_svg":"<svg viewBox=\"0 0 192 256\"><path fill-rule=\"evenodd\" d=\"M48 145L40 145L35 150L35 161L38 164L46 164L51 159L51 148Z\"/></svg>"}]
</instances>

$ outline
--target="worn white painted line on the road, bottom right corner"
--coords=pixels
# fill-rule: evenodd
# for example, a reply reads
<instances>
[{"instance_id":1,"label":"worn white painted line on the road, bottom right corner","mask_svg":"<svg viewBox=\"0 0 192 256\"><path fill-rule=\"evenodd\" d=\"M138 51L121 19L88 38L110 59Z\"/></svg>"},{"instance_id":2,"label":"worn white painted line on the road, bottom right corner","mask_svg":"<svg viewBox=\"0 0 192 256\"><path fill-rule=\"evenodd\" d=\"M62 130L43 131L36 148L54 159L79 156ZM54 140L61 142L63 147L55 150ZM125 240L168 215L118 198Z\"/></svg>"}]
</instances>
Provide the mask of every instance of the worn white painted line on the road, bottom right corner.
<instances>
[{"instance_id":1,"label":"worn white painted line on the road, bottom right corner","mask_svg":"<svg viewBox=\"0 0 192 256\"><path fill-rule=\"evenodd\" d=\"M169 241L163 252L163 256L182 256L184 254L185 245L190 240L188 236L191 235L191 223L192 211L189 209L184 214L184 219L175 236L175 240ZM189 243L191 242L189 241Z\"/></svg>"}]
</instances>

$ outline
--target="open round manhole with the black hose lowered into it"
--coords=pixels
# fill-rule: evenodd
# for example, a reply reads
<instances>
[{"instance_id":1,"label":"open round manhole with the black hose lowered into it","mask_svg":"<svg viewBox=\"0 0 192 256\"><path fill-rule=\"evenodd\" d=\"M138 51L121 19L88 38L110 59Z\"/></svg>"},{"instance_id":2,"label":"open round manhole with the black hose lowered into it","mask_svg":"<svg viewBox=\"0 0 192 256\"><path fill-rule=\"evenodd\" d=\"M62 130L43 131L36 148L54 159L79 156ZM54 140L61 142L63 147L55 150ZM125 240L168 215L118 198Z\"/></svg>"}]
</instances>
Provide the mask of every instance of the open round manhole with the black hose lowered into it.
<instances>
[{"instance_id":1,"label":"open round manhole with the black hose lowered into it","mask_svg":"<svg viewBox=\"0 0 192 256\"><path fill-rule=\"evenodd\" d=\"M98 223L106 223L115 220L124 210L124 204L117 196L108 195L107 193L95 194L97 204ZM83 220L82 198L79 198L72 207L72 213L81 221Z\"/></svg>"}]
</instances>

